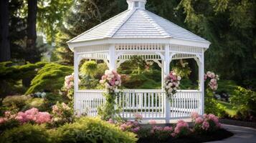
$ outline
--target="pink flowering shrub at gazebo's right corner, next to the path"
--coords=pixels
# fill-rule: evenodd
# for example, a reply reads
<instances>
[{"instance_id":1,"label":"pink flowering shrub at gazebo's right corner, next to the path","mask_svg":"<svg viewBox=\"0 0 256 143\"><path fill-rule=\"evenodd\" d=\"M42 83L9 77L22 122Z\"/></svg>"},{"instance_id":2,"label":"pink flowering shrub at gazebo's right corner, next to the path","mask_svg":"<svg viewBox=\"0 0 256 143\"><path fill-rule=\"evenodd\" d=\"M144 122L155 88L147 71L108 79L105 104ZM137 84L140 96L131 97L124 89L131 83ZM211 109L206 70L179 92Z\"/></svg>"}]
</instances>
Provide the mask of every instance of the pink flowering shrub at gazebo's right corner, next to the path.
<instances>
[{"instance_id":1,"label":"pink flowering shrub at gazebo's right corner, next to the path","mask_svg":"<svg viewBox=\"0 0 256 143\"><path fill-rule=\"evenodd\" d=\"M218 117L214 114L204 114L203 117L199 117L196 113L191 115L192 122L194 122L194 130L196 132L214 132L221 127Z\"/></svg>"}]
</instances>

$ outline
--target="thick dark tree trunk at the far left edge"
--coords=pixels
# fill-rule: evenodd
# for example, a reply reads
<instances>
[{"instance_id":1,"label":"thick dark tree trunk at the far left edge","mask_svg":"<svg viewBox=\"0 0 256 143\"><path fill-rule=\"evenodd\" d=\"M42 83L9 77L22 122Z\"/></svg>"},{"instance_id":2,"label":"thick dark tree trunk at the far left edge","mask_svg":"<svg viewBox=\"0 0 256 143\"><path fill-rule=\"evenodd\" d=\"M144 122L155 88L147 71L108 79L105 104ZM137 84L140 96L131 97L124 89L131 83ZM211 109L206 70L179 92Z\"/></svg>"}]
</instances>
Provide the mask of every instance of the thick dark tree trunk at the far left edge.
<instances>
[{"instance_id":1,"label":"thick dark tree trunk at the far left edge","mask_svg":"<svg viewBox=\"0 0 256 143\"><path fill-rule=\"evenodd\" d=\"M0 62L11 59L8 6L9 0L0 1Z\"/></svg>"}]
</instances>

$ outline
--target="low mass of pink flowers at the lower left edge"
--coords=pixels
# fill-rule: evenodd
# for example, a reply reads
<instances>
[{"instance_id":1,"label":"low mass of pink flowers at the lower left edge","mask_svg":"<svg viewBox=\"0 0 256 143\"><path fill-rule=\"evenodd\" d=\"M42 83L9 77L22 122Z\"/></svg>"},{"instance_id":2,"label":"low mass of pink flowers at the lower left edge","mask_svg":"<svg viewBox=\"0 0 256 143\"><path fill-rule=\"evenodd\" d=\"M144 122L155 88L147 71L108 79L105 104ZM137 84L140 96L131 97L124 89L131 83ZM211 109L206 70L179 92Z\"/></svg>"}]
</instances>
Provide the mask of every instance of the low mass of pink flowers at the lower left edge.
<instances>
[{"instance_id":1,"label":"low mass of pink flowers at the lower left edge","mask_svg":"<svg viewBox=\"0 0 256 143\"><path fill-rule=\"evenodd\" d=\"M13 120L18 121L20 124L27 122L44 124L51 122L51 115L48 112L39 112L37 108L29 109L26 112L18 112L17 114L5 112L4 117L0 118L0 124Z\"/></svg>"}]
</instances>

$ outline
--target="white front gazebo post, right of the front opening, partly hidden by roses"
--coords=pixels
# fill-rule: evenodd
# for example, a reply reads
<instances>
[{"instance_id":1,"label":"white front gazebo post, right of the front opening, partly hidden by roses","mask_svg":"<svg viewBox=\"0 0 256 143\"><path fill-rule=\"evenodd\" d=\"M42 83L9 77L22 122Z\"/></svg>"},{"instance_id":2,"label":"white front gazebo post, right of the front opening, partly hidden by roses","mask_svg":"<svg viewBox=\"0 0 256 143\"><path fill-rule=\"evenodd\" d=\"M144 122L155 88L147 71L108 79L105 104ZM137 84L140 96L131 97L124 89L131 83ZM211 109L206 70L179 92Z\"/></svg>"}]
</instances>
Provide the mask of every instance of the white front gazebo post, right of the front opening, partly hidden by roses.
<instances>
[{"instance_id":1,"label":"white front gazebo post, right of the front opening, partly hidden by roses","mask_svg":"<svg viewBox=\"0 0 256 143\"><path fill-rule=\"evenodd\" d=\"M165 45L165 53L164 53L164 66L163 66L163 71L164 71L164 74L165 76L167 76L170 72L170 46L169 44L166 44ZM164 77L163 76L163 81L164 81ZM163 87L162 87L163 89ZM163 89L164 91L164 89ZM171 115L171 104L170 104L170 101L169 99L165 99L166 100L166 123L169 123L170 122L170 115Z\"/></svg>"}]
</instances>

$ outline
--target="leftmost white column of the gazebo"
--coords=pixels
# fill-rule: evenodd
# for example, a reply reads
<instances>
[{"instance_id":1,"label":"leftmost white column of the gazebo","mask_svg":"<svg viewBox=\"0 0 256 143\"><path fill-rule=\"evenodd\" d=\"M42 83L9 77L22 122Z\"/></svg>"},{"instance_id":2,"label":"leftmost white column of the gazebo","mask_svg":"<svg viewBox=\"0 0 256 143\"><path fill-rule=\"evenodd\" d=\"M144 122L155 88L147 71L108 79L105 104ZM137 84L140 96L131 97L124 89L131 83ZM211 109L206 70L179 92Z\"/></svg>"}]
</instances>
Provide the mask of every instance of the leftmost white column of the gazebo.
<instances>
[{"instance_id":1,"label":"leftmost white column of the gazebo","mask_svg":"<svg viewBox=\"0 0 256 143\"><path fill-rule=\"evenodd\" d=\"M78 66L79 60L77 52L74 51L74 111L77 111L77 91L78 91Z\"/></svg>"}]
</instances>

